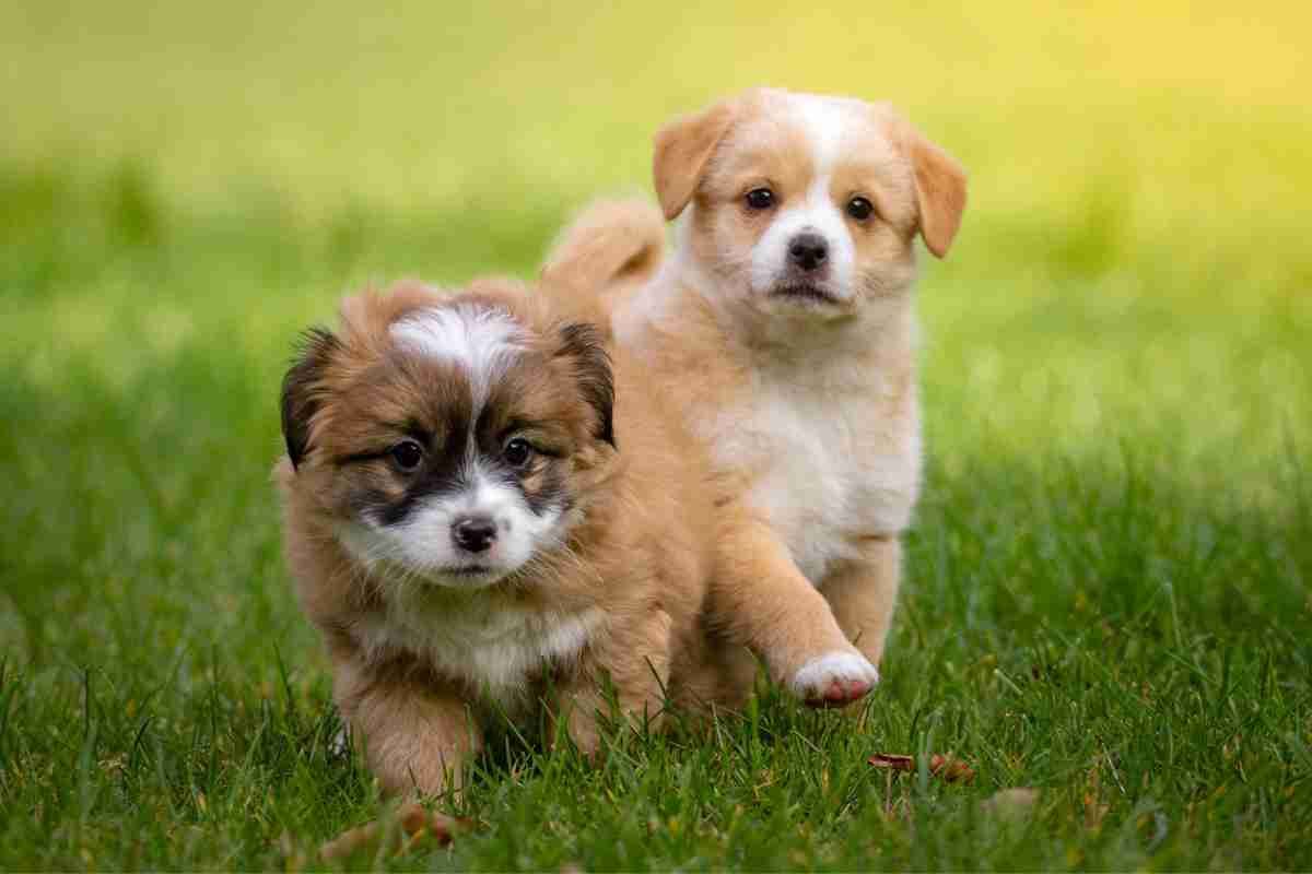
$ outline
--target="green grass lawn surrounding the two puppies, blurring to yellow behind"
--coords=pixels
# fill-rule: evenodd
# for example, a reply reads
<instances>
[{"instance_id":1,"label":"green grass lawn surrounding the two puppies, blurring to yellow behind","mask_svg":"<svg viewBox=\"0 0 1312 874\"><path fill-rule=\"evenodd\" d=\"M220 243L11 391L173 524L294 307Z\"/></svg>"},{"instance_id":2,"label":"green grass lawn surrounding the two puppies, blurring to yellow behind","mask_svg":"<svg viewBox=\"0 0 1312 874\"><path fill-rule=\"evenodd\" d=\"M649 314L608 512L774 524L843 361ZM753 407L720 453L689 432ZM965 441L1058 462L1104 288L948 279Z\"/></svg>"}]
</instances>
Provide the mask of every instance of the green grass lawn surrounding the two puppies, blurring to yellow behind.
<instances>
[{"instance_id":1,"label":"green grass lawn surrounding the two puppies, blurring to yellow behind","mask_svg":"<svg viewBox=\"0 0 1312 874\"><path fill-rule=\"evenodd\" d=\"M758 81L893 97L972 170L884 684L597 768L504 736L474 832L352 865L1312 867L1305 8L357 7L0 9L0 869L314 867L378 812L279 557L295 333L531 275ZM946 751L972 785L866 765Z\"/></svg>"}]
</instances>

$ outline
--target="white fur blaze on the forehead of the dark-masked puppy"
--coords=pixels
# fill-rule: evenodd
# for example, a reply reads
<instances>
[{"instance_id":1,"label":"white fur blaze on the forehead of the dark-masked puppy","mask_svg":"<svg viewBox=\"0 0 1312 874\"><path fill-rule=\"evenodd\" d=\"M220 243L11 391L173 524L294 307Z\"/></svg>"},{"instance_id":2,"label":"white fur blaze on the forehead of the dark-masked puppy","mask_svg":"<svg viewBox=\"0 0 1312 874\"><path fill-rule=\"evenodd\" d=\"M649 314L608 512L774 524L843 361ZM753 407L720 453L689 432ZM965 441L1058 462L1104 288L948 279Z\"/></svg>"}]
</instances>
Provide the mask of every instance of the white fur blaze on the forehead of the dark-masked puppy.
<instances>
[{"instance_id":1,"label":"white fur blaze on the forehead of the dark-masked puppy","mask_svg":"<svg viewBox=\"0 0 1312 874\"><path fill-rule=\"evenodd\" d=\"M470 377L475 418L521 349L520 325L508 313L464 304L425 309L392 325L391 334L417 352L459 363Z\"/></svg>"}]
</instances>

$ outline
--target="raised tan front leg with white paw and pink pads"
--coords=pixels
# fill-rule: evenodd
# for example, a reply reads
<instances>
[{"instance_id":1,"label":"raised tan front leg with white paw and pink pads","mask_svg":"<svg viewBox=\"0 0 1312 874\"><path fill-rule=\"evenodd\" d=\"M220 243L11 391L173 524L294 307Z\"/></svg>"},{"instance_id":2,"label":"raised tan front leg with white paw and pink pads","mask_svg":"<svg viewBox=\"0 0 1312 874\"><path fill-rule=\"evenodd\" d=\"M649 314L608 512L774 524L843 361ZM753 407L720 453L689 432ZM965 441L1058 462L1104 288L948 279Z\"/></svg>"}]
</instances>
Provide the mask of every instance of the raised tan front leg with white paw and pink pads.
<instances>
[{"instance_id":1,"label":"raised tan front leg with white paw and pink pads","mask_svg":"<svg viewBox=\"0 0 1312 874\"><path fill-rule=\"evenodd\" d=\"M724 511L711 586L715 620L811 706L842 706L866 694L879 672L848 641L787 546L747 508Z\"/></svg>"}]
</instances>

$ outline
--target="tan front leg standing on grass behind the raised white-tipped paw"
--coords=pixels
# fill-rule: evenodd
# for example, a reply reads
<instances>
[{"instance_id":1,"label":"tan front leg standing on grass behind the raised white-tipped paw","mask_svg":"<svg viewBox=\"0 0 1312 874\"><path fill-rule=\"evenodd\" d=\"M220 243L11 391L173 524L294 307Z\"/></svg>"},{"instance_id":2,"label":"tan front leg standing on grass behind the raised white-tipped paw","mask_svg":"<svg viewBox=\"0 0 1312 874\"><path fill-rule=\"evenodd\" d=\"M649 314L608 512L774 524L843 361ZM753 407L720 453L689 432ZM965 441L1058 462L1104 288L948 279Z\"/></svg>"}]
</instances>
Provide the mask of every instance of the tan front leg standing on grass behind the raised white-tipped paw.
<instances>
[{"instance_id":1,"label":"tan front leg standing on grass behind the raised white-tipped paw","mask_svg":"<svg viewBox=\"0 0 1312 874\"><path fill-rule=\"evenodd\" d=\"M824 595L848 639L878 667L897 607L901 541L896 535L870 537L863 552L862 560L829 574Z\"/></svg>"}]
</instances>

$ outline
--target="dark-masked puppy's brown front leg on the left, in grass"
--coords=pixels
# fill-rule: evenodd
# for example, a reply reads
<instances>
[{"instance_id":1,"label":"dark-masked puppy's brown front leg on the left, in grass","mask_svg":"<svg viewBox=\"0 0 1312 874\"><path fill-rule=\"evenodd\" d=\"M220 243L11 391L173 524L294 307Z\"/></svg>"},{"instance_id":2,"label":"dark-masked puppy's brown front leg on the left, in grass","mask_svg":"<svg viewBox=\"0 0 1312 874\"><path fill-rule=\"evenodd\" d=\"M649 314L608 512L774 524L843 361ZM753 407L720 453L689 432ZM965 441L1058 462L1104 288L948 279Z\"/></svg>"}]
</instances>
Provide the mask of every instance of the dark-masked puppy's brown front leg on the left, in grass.
<instances>
[{"instance_id":1,"label":"dark-masked puppy's brown front leg on the left, in grass","mask_svg":"<svg viewBox=\"0 0 1312 874\"><path fill-rule=\"evenodd\" d=\"M458 789L482 740L454 689L404 668L379 671L356 654L335 654L333 697L365 740L369 768L390 794L434 795Z\"/></svg>"}]
</instances>

